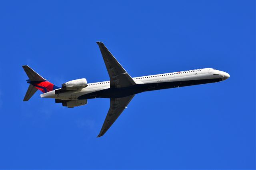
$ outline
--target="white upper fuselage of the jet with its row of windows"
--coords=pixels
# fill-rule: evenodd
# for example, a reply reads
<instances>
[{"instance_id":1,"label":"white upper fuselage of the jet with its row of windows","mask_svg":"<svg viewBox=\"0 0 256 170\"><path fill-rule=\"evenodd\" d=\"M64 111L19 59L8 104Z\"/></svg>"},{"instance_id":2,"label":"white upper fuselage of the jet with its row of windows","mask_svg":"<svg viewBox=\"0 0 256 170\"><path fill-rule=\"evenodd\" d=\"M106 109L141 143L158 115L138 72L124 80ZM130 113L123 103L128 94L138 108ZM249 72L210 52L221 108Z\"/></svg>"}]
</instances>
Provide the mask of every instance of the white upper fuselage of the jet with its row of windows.
<instances>
[{"instance_id":1,"label":"white upper fuselage of the jet with its row of windows","mask_svg":"<svg viewBox=\"0 0 256 170\"><path fill-rule=\"evenodd\" d=\"M136 82L136 84L144 84L144 85L146 84L161 85L162 83L168 83L168 82L169 83L180 82L180 85L182 87L182 82L192 82L195 80L198 81L198 80L210 80L210 79L219 79L220 81L223 81L228 78L229 78L229 74L224 71L206 68L206 69L194 69L194 70L188 70L188 71L178 71L173 73L133 77L132 79ZM213 83L213 82L206 82L206 83ZM198 83L198 84L203 84L203 83ZM191 85L195 85L195 84L191 84ZM162 89L173 88L171 86L172 84L170 84L170 87L168 86ZM180 86L174 85L174 87L180 87ZM79 89L76 91L67 91L65 93L59 93L59 94L55 94L55 90L54 90L48 93L41 94L41 97L55 98L60 100L78 100L78 97L82 95L93 94L105 89L110 89L110 81L88 83L87 87L83 89ZM152 89L152 90L157 90L157 89ZM97 96L97 97L100 97L100 96ZM90 98L96 98L96 97L90 97Z\"/></svg>"}]
</instances>

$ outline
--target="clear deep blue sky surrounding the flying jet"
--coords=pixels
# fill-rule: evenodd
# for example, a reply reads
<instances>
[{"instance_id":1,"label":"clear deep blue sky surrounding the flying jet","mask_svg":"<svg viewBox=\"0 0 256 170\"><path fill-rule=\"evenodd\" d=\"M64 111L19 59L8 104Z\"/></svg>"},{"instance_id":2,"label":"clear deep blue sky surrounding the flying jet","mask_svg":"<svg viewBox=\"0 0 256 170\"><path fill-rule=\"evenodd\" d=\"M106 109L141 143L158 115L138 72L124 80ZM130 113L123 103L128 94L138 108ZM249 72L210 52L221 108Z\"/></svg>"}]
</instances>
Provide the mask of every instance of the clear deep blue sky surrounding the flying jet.
<instances>
[{"instance_id":1,"label":"clear deep blue sky surrounding the flying jet","mask_svg":"<svg viewBox=\"0 0 256 170\"><path fill-rule=\"evenodd\" d=\"M255 1L1 1L0 168L254 169ZM132 77L197 68L206 85L141 93L101 138L109 99L74 109L38 91L108 80L96 41Z\"/></svg>"}]
</instances>

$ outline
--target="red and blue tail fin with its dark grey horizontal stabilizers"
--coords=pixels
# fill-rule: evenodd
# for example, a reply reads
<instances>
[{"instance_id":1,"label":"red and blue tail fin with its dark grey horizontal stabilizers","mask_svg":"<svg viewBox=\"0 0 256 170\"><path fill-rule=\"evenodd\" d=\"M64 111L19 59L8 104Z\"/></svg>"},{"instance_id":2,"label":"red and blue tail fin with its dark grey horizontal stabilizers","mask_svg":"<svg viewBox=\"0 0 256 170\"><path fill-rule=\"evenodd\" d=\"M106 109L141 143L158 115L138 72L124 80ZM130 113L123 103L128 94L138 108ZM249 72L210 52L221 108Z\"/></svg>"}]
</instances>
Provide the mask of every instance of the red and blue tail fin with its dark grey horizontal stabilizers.
<instances>
[{"instance_id":1,"label":"red and blue tail fin with its dark grey horizontal stabilizers","mask_svg":"<svg viewBox=\"0 0 256 170\"><path fill-rule=\"evenodd\" d=\"M24 71L28 75L27 83L30 83L27 93L23 99L23 101L28 101L32 95L36 93L37 90L42 91L43 93L47 93L49 91L59 89L60 87L50 83L45 78L40 76L36 71L31 69L28 65L22 65Z\"/></svg>"}]
</instances>

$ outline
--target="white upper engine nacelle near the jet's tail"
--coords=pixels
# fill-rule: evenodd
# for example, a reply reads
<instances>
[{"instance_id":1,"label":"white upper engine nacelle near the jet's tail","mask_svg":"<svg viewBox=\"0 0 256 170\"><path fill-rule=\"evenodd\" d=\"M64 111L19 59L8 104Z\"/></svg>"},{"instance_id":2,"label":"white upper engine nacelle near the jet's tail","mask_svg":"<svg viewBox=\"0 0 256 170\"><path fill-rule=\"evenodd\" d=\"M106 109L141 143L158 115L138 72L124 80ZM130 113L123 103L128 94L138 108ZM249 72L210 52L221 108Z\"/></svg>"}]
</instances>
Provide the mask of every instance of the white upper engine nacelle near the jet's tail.
<instances>
[{"instance_id":1,"label":"white upper engine nacelle near the jet's tail","mask_svg":"<svg viewBox=\"0 0 256 170\"><path fill-rule=\"evenodd\" d=\"M87 81L84 78L77 79L63 83L61 86L64 90L78 90L87 87Z\"/></svg>"}]
</instances>

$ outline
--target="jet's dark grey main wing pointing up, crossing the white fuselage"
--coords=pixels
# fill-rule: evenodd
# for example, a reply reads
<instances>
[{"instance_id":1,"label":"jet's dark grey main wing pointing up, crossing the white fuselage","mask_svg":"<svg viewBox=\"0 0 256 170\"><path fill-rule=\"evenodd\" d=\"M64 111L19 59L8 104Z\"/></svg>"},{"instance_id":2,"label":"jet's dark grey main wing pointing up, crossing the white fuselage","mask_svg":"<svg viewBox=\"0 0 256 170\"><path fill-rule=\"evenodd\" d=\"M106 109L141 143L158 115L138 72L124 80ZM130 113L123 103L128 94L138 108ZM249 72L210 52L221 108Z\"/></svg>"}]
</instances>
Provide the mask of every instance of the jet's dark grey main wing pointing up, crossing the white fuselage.
<instances>
[{"instance_id":1,"label":"jet's dark grey main wing pointing up, crossing the white fuselage","mask_svg":"<svg viewBox=\"0 0 256 170\"><path fill-rule=\"evenodd\" d=\"M125 71L125 69L118 63L115 57L108 51L102 42L97 42L100 47L100 52L104 59L105 65L110 77L110 88L129 87L136 85L132 77Z\"/></svg>"}]
</instances>

